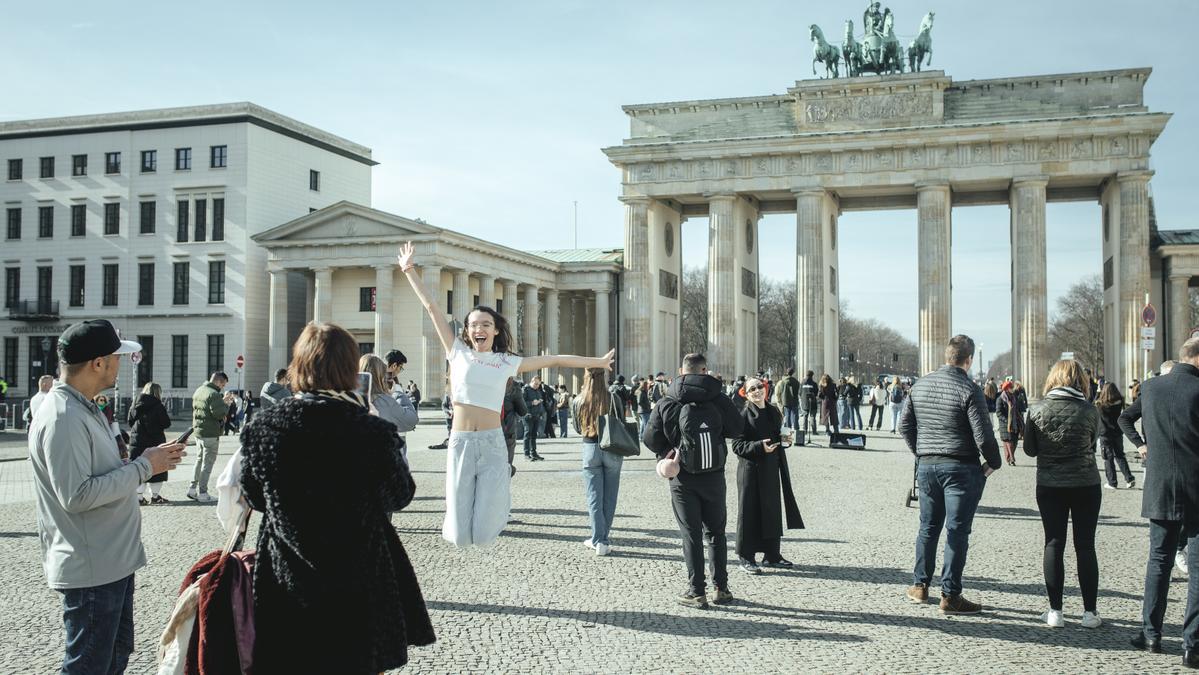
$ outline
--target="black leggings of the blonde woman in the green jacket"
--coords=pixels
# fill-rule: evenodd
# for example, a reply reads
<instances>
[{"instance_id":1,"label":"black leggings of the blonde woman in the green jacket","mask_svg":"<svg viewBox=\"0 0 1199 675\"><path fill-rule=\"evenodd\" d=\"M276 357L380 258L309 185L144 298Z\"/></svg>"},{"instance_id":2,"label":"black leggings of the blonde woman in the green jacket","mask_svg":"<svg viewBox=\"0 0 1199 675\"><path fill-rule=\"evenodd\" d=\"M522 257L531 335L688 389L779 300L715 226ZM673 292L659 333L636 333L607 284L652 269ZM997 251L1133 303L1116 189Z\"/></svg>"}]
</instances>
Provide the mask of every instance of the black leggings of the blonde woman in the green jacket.
<instances>
[{"instance_id":1,"label":"black leggings of the blonde woman in the green jacket","mask_svg":"<svg viewBox=\"0 0 1199 675\"><path fill-rule=\"evenodd\" d=\"M1095 611L1099 595L1099 560L1095 555L1095 528L1099 523L1099 484L1085 488L1052 488L1037 486L1037 507L1046 531L1042 566L1049 608L1061 610L1061 589L1065 584L1066 524L1074 523L1074 555L1078 558L1078 586L1083 591L1083 609Z\"/></svg>"}]
</instances>

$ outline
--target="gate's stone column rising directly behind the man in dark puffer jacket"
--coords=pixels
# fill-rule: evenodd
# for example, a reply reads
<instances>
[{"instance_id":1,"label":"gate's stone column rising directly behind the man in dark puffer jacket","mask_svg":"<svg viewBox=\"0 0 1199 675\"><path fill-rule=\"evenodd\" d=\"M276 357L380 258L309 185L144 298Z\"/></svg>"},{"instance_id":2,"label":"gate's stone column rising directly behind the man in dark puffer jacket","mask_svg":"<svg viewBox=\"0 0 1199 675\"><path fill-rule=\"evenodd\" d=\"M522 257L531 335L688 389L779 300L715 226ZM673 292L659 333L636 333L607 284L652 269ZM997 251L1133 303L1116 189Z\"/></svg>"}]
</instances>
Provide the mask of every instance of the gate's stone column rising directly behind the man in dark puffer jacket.
<instances>
[{"instance_id":1,"label":"gate's stone column rising directly behind the man in dark puffer jacket","mask_svg":"<svg viewBox=\"0 0 1199 675\"><path fill-rule=\"evenodd\" d=\"M948 183L917 183L917 246L920 248L920 374L945 363L950 342L952 231Z\"/></svg>"}]
</instances>

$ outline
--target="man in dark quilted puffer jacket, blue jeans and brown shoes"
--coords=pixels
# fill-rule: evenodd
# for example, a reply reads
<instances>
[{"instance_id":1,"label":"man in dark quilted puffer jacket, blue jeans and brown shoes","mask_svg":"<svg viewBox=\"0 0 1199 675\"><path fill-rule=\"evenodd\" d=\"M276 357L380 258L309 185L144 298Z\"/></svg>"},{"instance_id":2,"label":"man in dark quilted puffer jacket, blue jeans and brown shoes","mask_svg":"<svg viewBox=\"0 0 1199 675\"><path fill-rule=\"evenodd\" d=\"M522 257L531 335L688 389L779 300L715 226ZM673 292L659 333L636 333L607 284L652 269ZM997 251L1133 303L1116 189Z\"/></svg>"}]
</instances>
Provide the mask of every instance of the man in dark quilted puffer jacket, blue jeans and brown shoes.
<instances>
[{"instance_id":1,"label":"man in dark quilted puffer jacket, blue jeans and brown shoes","mask_svg":"<svg viewBox=\"0 0 1199 675\"><path fill-rule=\"evenodd\" d=\"M1002 466L987 399L968 374L975 343L953 336L945 366L921 378L904 402L899 433L916 456L920 484L920 531L916 567L908 599L928 602L928 581L936 563L936 542L945 534L941 568L941 613L977 614L982 605L962 597L962 572L970 547L970 526L987 476ZM986 464L978 463L982 453Z\"/></svg>"}]
</instances>

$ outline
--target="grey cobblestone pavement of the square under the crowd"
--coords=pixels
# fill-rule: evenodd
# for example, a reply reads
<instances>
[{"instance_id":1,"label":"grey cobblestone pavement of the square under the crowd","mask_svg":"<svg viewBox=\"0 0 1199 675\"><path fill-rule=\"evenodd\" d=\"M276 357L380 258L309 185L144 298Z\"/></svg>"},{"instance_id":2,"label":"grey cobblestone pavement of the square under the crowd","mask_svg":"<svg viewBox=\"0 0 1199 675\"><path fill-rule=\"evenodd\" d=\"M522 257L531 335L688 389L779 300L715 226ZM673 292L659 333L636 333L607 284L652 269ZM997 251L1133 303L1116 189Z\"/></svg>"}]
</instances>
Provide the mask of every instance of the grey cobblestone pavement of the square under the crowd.
<instances>
[{"instance_id":1,"label":"grey cobblestone pavement of the square under the crowd","mask_svg":"<svg viewBox=\"0 0 1199 675\"><path fill-rule=\"evenodd\" d=\"M789 531L783 553L796 567L760 577L733 568L736 602L699 610L674 604L685 590L681 547L665 483L647 457L625 463L609 558L580 543L588 518L573 439L541 441L546 462L530 464L518 456L512 523L500 543L456 550L440 538L444 452L426 450L442 436L435 426L409 435L418 496L394 518L439 638L412 650L414 671L1180 670L1181 581L1170 591L1168 653L1126 646L1140 615L1147 548L1139 489L1103 493L1097 536L1103 627L1078 625L1073 553L1066 562L1067 626L1053 629L1038 621L1047 601L1028 458L989 480L975 520L965 595L987 611L944 617L933 604L903 599L918 517L902 504L911 481L911 456L902 442L874 433L867 451L794 448L793 480L808 529ZM222 446L218 469L233 450L233 442ZM330 462L337 452L330 448ZM14 483L13 499L0 504L4 673L54 670L62 650L60 601L46 587L38 562L31 493L16 486L18 468L28 481L26 465L0 463ZM138 647L129 673L152 671L155 643L180 579L222 542L212 507L183 499L189 475L187 465L171 474L165 495L173 505L143 510L150 563L137 577ZM731 530L731 468L728 475Z\"/></svg>"}]
</instances>

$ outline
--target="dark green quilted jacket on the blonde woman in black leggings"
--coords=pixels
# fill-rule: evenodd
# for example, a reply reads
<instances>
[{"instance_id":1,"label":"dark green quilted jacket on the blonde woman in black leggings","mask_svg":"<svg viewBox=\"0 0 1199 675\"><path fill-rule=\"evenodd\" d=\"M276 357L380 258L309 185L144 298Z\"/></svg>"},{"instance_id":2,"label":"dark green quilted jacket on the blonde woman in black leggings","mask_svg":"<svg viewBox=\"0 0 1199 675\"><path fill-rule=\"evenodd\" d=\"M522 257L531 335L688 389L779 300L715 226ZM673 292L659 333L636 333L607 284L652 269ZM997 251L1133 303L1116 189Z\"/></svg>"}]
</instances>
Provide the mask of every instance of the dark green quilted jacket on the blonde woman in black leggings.
<instances>
[{"instance_id":1,"label":"dark green quilted jacket on the blonde woman in black leggings","mask_svg":"<svg viewBox=\"0 0 1199 675\"><path fill-rule=\"evenodd\" d=\"M1037 484L1083 488L1099 484L1095 441L1099 412L1080 392L1059 387L1029 410L1024 452L1037 458Z\"/></svg>"}]
</instances>

